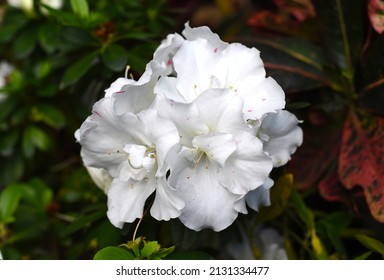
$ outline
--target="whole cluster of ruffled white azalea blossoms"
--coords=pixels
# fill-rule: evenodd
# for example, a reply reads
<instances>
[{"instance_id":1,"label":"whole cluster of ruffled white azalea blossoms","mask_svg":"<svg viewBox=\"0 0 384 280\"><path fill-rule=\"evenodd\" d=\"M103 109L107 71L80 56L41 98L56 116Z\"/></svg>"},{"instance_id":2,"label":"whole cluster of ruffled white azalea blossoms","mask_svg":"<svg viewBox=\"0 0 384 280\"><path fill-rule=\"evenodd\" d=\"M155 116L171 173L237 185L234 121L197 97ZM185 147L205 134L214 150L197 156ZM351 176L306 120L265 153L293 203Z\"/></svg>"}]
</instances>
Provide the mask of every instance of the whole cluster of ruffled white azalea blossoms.
<instances>
[{"instance_id":1,"label":"whole cluster of ruffled white azalea blossoms","mask_svg":"<svg viewBox=\"0 0 384 280\"><path fill-rule=\"evenodd\" d=\"M112 83L75 136L116 227L141 218L153 195L157 220L220 231L270 204L271 170L301 145L284 107L257 49L186 24L137 81Z\"/></svg>"}]
</instances>

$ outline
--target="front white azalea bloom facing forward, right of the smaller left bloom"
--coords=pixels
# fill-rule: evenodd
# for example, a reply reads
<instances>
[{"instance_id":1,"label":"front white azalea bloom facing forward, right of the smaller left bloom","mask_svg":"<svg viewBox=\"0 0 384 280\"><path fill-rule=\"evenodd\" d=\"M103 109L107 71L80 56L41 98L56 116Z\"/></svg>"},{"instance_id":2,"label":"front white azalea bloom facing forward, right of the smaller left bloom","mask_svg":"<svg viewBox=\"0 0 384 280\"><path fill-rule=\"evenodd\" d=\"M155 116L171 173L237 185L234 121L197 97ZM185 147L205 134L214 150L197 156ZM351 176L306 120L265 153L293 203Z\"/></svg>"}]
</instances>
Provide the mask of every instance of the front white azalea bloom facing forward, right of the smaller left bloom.
<instances>
[{"instance_id":1,"label":"front white azalea bloom facing forward, right of the smaller left bloom","mask_svg":"<svg viewBox=\"0 0 384 280\"><path fill-rule=\"evenodd\" d=\"M231 225L240 212L237 201L261 186L272 169L242 107L228 89L207 90L189 104L156 99L154 108L179 130L182 149L169 182L185 201L179 219L193 230Z\"/></svg>"}]
</instances>

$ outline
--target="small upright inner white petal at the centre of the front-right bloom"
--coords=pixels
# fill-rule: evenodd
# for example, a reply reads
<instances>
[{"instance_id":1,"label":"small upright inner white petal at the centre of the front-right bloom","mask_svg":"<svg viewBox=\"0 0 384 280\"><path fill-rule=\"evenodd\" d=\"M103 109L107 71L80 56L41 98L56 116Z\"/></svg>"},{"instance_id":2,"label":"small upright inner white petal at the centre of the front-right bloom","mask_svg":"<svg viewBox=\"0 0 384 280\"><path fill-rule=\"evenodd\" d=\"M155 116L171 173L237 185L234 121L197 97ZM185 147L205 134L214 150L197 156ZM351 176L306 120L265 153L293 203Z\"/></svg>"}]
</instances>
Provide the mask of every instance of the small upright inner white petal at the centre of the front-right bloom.
<instances>
[{"instance_id":1,"label":"small upright inner white petal at the centre of the front-right bloom","mask_svg":"<svg viewBox=\"0 0 384 280\"><path fill-rule=\"evenodd\" d=\"M206 154L206 157L222 167L227 158L236 150L236 142L229 133L209 133L196 136L192 144Z\"/></svg>"}]
</instances>

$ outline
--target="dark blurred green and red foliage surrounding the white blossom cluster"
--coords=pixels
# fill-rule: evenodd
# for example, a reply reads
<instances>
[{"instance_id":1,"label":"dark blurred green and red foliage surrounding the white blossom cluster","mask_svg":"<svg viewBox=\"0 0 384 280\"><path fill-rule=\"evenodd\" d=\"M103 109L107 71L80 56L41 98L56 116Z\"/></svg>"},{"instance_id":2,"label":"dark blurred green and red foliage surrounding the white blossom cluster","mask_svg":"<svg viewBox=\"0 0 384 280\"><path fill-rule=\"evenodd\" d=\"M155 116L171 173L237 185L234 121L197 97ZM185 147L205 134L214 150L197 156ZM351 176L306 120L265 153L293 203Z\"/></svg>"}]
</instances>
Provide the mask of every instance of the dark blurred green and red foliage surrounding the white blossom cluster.
<instances>
[{"instance_id":1,"label":"dark blurred green and red foliage surrounding the white blossom cluster","mask_svg":"<svg viewBox=\"0 0 384 280\"><path fill-rule=\"evenodd\" d=\"M10 2L0 1L0 63L11 65L0 67L5 259L260 258L263 227L279 232L291 259L383 258L383 1ZM186 21L261 51L303 120L304 144L272 174L271 206L222 232L149 216L118 230L74 132L128 65L140 77Z\"/></svg>"}]
</instances>

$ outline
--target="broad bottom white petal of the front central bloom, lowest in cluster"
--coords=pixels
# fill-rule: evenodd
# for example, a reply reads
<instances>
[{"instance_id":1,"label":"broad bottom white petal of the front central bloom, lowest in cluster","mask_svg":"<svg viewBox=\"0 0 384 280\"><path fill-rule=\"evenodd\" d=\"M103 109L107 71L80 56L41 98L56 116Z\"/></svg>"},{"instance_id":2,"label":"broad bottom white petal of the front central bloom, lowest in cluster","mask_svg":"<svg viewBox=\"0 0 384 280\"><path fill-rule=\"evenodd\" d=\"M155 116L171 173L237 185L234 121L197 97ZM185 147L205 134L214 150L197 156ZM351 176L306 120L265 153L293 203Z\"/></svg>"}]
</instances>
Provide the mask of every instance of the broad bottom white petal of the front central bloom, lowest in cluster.
<instances>
[{"instance_id":1,"label":"broad bottom white petal of the front central bloom, lowest in cluster","mask_svg":"<svg viewBox=\"0 0 384 280\"><path fill-rule=\"evenodd\" d=\"M212 165L182 166L180 172L171 173L170 177L171 182L176 180L176 191L185 201L179 217L185 226L195 231L221 231L234 222L238 215L234 203L239 196L220 185Z\"/></svg>"}]
</instances>

